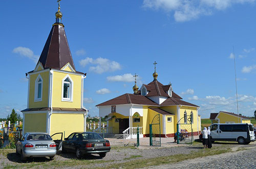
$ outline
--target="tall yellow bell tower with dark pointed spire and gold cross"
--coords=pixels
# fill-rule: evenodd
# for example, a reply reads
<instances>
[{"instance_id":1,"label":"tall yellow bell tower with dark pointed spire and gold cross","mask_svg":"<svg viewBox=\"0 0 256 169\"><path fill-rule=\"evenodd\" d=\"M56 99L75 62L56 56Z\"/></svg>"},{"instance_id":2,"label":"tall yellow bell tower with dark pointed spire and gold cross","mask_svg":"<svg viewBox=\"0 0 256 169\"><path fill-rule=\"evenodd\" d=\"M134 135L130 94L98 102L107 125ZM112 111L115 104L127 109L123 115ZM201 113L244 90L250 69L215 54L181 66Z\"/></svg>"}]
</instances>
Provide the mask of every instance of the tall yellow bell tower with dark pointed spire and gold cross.
<instances>
[{"instance_id":1,"label":"tall yellow bell tower with dark pointed spire and gold cross","mask_svg":"<svg viewBox=\"0 0 256 169\"><path fill-rule=\"evenodd\" d=\"M23 112L23 133L86 131L88 110L83 107L83 79L70 52L60 6L45 47L29 79L28 104Z\"/></svg>"}]
</instances>

